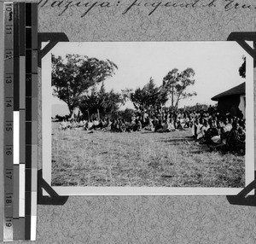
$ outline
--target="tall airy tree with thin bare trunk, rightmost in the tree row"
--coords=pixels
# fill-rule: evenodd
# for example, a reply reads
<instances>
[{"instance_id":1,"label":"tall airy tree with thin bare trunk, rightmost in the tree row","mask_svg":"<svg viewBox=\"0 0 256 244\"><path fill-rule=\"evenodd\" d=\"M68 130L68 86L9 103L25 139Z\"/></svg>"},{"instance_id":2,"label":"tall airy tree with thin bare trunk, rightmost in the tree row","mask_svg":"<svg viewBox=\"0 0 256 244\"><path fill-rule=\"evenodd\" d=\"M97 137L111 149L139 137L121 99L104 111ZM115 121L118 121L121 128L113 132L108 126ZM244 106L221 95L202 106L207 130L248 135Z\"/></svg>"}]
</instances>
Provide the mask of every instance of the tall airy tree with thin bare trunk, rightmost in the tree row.
<instances>
[{"instance_id":1,"label":"tall airy tree with thin bare trunk, rightmost in the tree row","mask_svg":"<svg viewBox=\"0 0 256 244\"><path fill-rule=\"evenodd\" d=\"M188 67L179 73L177 68L172 69L163 78L163 88L172 98L172 107L177 108L178 102L190 96L196 96L196 92L187 92L189 85L195 84L195 71Z\"/></svg>"}]
</instances>

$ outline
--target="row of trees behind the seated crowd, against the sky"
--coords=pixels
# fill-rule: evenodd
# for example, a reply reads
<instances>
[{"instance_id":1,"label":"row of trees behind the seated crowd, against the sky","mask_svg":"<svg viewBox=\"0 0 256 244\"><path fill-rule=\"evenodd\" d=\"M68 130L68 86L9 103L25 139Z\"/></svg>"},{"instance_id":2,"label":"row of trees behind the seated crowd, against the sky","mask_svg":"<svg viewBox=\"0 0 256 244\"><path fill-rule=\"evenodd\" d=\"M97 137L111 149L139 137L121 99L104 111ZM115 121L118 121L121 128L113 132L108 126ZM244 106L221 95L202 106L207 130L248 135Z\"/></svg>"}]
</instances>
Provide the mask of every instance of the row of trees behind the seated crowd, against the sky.
<instances>
[{"instance_id":1,"label":"row of trees behind the seated crowd, against the sky","mask_svg":"<svg viewBox=\"0 0 256 244\"><path fill-rule=\"evenodd\" d=\"M169 99L172 107L177 107L180 100L196 95L186 91L189 85L195 84L192 68L183 72L172 69L160 86L150 78L143 88L125 89L122 93L107 92L104 80L112 77L117 69L117 65L109 60L100 61L84 55L66 55L62 59L52 55L53 95L67 103L71 114L75 107L85 114L115 113L127 100L131 100L136 109L164 106ZM97 89L97 84L102 84L100 89Z\"/></svg>"}]
</instances>

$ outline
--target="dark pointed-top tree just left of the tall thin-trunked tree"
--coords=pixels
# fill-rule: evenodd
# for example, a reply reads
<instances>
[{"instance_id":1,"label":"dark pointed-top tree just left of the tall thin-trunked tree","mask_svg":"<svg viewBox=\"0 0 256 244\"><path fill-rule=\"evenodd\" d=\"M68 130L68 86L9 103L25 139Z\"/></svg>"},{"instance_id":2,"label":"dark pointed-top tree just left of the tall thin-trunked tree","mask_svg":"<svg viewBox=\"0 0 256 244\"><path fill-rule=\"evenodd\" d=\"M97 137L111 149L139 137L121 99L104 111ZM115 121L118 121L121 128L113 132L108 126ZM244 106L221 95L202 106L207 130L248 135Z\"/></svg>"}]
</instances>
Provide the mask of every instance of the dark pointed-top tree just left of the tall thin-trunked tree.
<instances>
[{"instance_id":1,"label":"dark pointed-top tree just left of the tall thin-trunked tree","mask_svg":"<svg viewBox=\"0 0 256 244\"><path fill-rule=\"evenodd\" d=\"M165 104L167 100L166 90L162 86L157 87L153 78L149 79L148 84L145 84L143 89L137 88L131 92L131 102L137 109L160 106Z\"/></svg>"}]
</instances>

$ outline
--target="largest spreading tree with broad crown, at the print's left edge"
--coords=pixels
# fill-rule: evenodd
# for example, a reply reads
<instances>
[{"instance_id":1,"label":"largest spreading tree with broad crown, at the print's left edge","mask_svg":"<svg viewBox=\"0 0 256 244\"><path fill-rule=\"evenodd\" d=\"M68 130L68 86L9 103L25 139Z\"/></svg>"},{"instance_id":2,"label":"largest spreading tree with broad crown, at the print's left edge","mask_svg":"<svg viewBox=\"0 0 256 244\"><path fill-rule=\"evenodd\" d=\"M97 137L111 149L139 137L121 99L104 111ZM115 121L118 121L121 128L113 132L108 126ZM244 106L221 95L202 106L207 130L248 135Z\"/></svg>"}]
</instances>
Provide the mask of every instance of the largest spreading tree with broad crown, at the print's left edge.
<instances>
[{"instance_id":1,"label":"largest spreading tree with broad crown, at the print's left edge","mask_svg":"<svg viewBox=\"0 0 256 244\"><path fill-rule=\"evenodd\" d=\"M80 96L88 89L112 77L118 67L113 61L100 61L85 55L52 55L53 96L67 103L70 114L79 106Z\"/></svg>"}]
</instances>

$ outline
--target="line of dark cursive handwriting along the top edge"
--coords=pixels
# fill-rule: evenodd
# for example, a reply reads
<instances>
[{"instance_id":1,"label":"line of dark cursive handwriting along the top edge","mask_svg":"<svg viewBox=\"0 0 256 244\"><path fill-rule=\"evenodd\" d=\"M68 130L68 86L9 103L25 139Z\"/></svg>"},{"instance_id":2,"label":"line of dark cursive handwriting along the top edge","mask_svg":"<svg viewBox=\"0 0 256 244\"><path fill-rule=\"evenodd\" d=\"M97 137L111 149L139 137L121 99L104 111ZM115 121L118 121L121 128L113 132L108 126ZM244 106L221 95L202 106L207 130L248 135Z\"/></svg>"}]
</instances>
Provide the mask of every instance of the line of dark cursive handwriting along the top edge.
<instances>
[{"instance_id":1,"label":"line of dark cursive handwriting along the top edge","mask_svg":"<svg viewBox=\"0 0 256 244\"><path fill-rule=\"evenodd\" d=\"M124 0L123 0L124 1ZM241 0L243 1L243 0ZM189 3L184 0L172 0L172 1L143 1L132 0L131 3L121 0L118 2L101 2L83 0L40 0L38 6L40 8L58 8L60 9L59 16L63 15L68 9L73 7L82 10L81 18L88 15L93 9L109 9L109 8L122 8L122 15L136 10L136 9L148 9L148 15L153 15L157 9L160 8L173 8L173 9L196 9L196 8L214 8L218 3L224 6L224 11L230 11L231 9L256 9L256 5L253 6L247 3L241 3L240 0L192 0Z\"/></svg>"}]
</instances>

